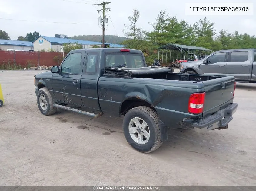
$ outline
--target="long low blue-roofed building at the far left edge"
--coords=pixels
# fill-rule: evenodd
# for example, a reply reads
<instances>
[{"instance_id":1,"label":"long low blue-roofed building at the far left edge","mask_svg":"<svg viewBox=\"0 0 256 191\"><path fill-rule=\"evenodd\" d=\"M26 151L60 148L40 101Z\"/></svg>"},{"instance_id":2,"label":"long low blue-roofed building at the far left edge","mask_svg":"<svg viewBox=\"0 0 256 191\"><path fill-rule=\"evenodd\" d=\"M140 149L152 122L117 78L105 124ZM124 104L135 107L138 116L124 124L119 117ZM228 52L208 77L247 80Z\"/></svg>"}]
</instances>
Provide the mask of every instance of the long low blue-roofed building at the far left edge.
<instances>
[{"instance_id":1,"label":"long low blue-roofed building at the far left edge","mask_svg":"<svg viewBox=\"0 0 256 191\"><path fill-rule=\"evenodd\" d=\"M0 50L29 51L33 50L32 42L0 39Z\"/></svg>"}]
</instances>

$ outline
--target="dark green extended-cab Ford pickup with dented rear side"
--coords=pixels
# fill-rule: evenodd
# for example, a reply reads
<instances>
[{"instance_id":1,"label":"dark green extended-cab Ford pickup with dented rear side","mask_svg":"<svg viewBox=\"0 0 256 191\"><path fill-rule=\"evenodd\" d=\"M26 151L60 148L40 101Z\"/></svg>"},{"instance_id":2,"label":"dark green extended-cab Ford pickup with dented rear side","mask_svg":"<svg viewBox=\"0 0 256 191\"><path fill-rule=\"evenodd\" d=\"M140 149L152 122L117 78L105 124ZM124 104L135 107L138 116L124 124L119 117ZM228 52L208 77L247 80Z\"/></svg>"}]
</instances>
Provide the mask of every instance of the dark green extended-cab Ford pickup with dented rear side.
<instances>
[{"instance_id":1,"label":"dark green extended-cab Ford pickup with dented rear side","mask_svg":"<svg viewBox=\"0 0 256 191\"><path fill-rule=\"evenodd\" d=\"M168 139L168 128L227 129L237 109L234 90L233 76L175 74L147 66L132 49L72 50L59 67L35 75L42 114L61 108L94 118L123 115L126 140L144 153Z\"/></svg>"}]
</instances>

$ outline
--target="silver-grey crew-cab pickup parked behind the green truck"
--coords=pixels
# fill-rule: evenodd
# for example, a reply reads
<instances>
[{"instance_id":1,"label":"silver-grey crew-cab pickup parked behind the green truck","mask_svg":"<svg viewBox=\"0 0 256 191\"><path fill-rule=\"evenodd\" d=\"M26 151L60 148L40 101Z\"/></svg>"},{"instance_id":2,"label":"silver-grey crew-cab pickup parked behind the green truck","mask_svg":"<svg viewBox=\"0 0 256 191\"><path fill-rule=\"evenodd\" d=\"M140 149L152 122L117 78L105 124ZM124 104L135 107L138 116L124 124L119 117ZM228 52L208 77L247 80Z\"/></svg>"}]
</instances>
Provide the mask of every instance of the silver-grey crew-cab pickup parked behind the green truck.
<instances>
[{"instance_id":1,"label":"silver-grey crew-cab pickup parked behind the green truck","mask_svg":"<svg viewBox=\"0 0 256 191\"><path fill-rule=\"evenodd\" d=\"M202 60L181 63L180 73L234 76L236 82L256 83L256 49L216 51Z\"/></svg>"}]
</instances>

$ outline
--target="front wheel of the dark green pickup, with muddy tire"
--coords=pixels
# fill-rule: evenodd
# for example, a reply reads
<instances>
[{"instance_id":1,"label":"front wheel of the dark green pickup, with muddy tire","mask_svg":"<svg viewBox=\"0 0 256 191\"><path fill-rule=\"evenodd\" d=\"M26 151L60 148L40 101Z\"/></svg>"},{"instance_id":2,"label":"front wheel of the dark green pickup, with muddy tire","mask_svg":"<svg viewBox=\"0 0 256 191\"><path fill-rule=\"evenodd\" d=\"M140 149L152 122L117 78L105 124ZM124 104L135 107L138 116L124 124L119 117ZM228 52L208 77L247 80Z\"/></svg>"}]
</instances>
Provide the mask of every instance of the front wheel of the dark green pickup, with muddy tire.
<instances>
[{"instance_id":1,"label":"front wheel of the dark green pickup, with muddy tire","mask_svg":"<svg viewBox=\"0 0 256 191\"><path fill-rule=\"evenodd\" d=\"M52 115L56 113L57 107L53 107L53 100L47 88L41 88L37 93L37 105L44 115Z\"/></svg>"}]
</instances>

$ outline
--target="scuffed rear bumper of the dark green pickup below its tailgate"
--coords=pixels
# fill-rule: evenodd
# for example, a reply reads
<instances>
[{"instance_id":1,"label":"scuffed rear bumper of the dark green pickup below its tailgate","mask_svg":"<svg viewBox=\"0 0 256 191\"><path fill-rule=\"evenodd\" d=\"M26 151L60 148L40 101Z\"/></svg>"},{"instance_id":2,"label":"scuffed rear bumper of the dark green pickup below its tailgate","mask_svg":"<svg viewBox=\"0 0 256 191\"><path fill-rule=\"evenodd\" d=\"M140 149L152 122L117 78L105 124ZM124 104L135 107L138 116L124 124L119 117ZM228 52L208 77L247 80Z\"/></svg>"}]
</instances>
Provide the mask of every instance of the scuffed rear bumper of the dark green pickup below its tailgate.
<instances>
[{"instance_id":1,"label":"scuffed rear bumper of the dark green pickup below its tailgate","mask_svg":"<svg viewBox=\"0 0 256 191\"><path fill-rule=\"evenodd\" d=\"M212 129L226 127L228 123L233 119L232 115L237 110L237 103L232 103L217 111L215 114L210 115L201 122L193 123L193 128L196 132L203 133Z\"/></svg>"}]
</instances>

